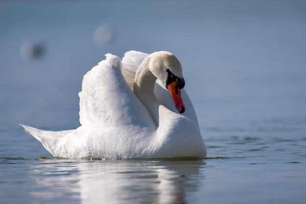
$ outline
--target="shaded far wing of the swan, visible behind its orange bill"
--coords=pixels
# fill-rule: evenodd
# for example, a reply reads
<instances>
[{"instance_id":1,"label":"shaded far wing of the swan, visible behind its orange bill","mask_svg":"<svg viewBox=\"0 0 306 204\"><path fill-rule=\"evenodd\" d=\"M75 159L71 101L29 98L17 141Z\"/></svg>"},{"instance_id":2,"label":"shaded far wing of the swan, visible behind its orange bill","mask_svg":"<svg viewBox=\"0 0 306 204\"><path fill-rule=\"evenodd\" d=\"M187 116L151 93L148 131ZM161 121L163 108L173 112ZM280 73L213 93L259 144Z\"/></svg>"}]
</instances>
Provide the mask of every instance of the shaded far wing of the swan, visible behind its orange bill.
<instances>
[{"instance_id":1,"label":"shaded far wing of the swan, visible behind its orange bill","mask_svg":"<svg viewBox=\"0 0 306 204\"><path fill-rule=\"evenodd\" d=\"M169 110L171 110L175 113L178 113L176 108L175 108L175 105L173 104L173 101L170 97L169 91L166 88L164 88L164 86L161 84L161 82L158 79L155 82L154 94L156 96L156 99L162 105L164 105ZM185 107L186 107L185 112L182 115L184 115L187 118L189 118L190 120L192 120L198 127L197 114L196 114L195 108L194 108L187 92L185 91L185 89L181 89L181 96L182 96L183 102L184 102Z\"/></svg>"}]
</instances>

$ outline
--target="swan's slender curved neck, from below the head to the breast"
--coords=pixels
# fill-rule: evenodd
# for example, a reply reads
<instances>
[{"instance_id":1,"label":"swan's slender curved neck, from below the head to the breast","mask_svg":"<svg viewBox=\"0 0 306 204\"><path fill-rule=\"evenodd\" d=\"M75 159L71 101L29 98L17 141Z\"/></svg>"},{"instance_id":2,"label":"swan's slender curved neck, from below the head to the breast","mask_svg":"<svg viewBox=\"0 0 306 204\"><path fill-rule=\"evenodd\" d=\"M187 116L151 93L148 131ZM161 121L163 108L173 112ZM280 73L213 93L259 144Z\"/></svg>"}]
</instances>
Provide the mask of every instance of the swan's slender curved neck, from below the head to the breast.
<instances>
[{"instance_id":1,"label":"swan's slender curved neck, from below the head to the breast","mask_svg":"<svg viewBox=\"0 0 306 204\"><path fill-rule=\"evenodd\" d=\"M149 68L149 60L145 59L137 69L133 85L133 91L138 99L144 104L158 126L158 109L160 103L154 95L156 77Z\"/></svg>"}]
</instances>

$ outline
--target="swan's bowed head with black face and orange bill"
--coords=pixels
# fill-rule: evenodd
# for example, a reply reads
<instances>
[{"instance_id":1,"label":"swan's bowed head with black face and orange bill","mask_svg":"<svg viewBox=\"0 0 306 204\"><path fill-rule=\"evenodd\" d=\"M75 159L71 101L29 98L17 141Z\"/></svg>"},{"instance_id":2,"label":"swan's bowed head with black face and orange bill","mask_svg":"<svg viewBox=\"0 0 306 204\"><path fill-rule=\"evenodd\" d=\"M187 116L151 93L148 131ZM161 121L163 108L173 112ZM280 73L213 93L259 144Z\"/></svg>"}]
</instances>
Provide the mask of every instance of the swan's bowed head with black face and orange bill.
<instances>
[{"instance_id":1,"label":"swan's bowed head with black face and orange bill","mask_svg":"<svg viewBox=\"0 0 306 204\"><path fill-rule=\"evenodd\" d=\"M178 112L184 113L185 105L180 89L184 88L185 80L182 66L174 54L165 51L154 52L151 54L150 69L153 75L169 90Z\"/></svg>"}]
</instances>

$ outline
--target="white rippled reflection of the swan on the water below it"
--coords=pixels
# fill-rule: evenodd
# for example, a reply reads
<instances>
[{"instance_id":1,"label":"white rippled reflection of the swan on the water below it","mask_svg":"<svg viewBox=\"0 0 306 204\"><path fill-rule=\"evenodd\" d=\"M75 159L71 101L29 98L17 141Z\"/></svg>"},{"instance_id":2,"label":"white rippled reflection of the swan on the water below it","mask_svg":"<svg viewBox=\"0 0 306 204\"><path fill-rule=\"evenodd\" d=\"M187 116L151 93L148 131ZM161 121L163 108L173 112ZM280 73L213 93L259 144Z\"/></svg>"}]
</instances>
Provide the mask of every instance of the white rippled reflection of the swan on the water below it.
<instances>
[{"instance_id":1,"label":"white rippled reflection of the swan on the water below it","mask_svg":"<svg viewBox=\"0 0 306 204\"><path fill-rule=\"evenodd\" d=\"M32 175L39 200L82 203L186 203L204 179L202 160L75 161L47 159ZM43 192L42 192L43 190ZM49 192L49 193L48 193ZM54 201L54 200L53 200Z\"/></svg>"}]
</instances>

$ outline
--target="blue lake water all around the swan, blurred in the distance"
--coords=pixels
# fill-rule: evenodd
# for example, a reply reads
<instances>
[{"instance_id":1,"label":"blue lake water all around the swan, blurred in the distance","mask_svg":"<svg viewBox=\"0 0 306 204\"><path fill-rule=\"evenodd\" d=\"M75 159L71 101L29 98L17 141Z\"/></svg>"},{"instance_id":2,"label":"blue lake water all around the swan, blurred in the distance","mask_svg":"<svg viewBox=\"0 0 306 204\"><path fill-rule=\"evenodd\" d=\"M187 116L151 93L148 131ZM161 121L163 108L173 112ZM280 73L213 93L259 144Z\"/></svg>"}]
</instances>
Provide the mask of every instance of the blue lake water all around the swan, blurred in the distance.
<instances>
[{"instance_id":1,"label":"blue lake water all around the swan, blurred in the distance","mask_svg":"<svg viewBox=\"0 0 306 204\"><path fill-rule=\"evenodd\" d=\"M181 61L207 158L63 160L18 125L78 127L83 75L128 50ZM303 204L305 56L303 0L1 1L0 203Z\"/></svg>"}]
</instances>

